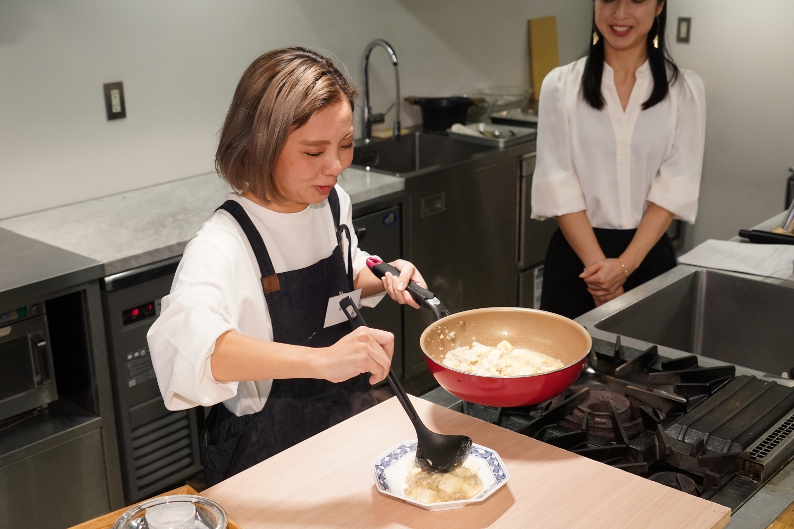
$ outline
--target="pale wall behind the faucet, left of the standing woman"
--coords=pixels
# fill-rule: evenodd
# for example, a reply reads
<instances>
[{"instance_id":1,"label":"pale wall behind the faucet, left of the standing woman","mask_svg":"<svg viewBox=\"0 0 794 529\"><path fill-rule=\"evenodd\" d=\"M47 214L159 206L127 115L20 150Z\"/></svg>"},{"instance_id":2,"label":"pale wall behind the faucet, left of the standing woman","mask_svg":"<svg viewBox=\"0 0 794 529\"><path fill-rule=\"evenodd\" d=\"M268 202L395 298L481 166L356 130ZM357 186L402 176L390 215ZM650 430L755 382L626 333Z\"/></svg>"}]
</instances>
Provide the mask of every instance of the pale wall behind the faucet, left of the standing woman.
<instances>
[{"instance_id":1,"label":"pale wall behind the faucet, left of the standing woman","mask_svg":"<svg viewBox=\"0 0 794 529\"><path fill-rule=\"evenodd\" d=\"M590 0L0 0L0 218L210 171L237 80L268 49L327 50L360 86L364 46L383 37L403 95L527 86L526 20L556 15L568 62L584 50L591 9ZM377 112L393 98L391 67L383 51L373 61ZM102 83L119 80L128 117L106 121ZM403 121L417 117L405 108Z\"/></svg>"}]
</instances>

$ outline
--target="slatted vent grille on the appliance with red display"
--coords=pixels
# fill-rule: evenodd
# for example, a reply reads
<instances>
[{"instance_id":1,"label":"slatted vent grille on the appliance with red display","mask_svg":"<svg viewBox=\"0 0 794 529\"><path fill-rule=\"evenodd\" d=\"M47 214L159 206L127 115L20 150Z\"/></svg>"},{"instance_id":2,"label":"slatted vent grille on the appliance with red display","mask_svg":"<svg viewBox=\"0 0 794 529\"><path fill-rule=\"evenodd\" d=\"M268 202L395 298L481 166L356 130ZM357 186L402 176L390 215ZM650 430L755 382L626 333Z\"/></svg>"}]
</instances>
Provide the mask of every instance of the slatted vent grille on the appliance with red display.
<instances>
[{"instance_id":1,"label":"slatted vent grille on the appliance with red display","mask_svg":"<svg viewBox=\"0 0 794 529\"><path fill-rule=\"evenodd\" d=\"M142 489L193 464L187 411L172 412L133 430L135 479Z\"/></svg>"}]
</instances>

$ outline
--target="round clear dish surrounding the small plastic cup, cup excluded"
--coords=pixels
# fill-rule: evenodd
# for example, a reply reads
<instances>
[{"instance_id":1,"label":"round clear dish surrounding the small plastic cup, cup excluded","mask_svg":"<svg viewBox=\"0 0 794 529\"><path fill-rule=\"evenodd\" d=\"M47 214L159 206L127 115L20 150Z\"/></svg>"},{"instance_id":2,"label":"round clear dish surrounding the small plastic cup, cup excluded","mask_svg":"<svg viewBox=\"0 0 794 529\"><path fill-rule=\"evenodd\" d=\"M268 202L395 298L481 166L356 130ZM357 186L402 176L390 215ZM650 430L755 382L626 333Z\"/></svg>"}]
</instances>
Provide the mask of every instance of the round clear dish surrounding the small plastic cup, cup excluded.
<instances>
[{"instance_id":1,"label":"round clear dish surrounding the small plastic cup, cup excluded","mask_svg":"<svg viewBox=\"0 0 794 529\"><path fill-rule=\"evenodd\" d=\"M160 496L141 502L129 508L122 514L113 529L150 529L147 521L149 509L161 508L164 505L183 506L191 504L195 507L195 516L187 524L173 526L180 529L225 529L229 522L226 510L217 501L210 500L204 496L193 496L191 494L178 494L175 496Z\"/></svg>"}]
</instances>

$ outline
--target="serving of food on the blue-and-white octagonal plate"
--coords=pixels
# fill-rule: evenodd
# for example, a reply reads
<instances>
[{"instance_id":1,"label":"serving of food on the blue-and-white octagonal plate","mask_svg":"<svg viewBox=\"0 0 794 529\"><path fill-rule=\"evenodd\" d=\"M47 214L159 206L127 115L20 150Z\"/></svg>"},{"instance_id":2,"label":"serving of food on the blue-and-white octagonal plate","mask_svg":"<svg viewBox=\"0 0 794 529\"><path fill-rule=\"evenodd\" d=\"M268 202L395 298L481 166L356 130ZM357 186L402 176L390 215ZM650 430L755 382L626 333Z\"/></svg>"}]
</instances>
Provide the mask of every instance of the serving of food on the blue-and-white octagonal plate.
<instances>
[{"instance_id":1,"label":"serving of food on the blue-and-white octagonal plate","mask_svg":"<svg viewBox=\"0 0 794 529\"><path fill-rule=\"evenodd\" d=\"M411 458L405 494L426 504L470 500L483 489L483 480L477 475L479 470L480 463L470 457L452 472L431 474L416 466Z\"/></svg>"}]
</instances>

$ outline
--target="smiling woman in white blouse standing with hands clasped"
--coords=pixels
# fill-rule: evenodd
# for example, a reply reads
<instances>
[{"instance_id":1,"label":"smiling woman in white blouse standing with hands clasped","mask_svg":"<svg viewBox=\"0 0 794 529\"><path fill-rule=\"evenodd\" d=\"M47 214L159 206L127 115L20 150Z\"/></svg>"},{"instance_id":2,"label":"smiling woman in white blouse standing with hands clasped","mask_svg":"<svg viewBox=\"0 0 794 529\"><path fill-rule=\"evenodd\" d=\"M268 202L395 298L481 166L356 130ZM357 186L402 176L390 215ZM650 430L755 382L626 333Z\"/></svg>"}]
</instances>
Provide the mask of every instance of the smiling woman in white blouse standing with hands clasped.
<instances>
[{"instance_id":1,"label":"smiling woman in white blouse standing with hands clasped","mask_svg":"<svg viewBox=\"0 0 794 529\"><path fill-rule=\"evenodd\" d=\"M532 217L556 217L541 309L576 318L676 266L695 221L705 95L665 48L664 0L594 0L588 56L543 80Z\"/></svg>"}]
</instances>

